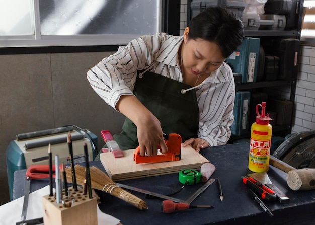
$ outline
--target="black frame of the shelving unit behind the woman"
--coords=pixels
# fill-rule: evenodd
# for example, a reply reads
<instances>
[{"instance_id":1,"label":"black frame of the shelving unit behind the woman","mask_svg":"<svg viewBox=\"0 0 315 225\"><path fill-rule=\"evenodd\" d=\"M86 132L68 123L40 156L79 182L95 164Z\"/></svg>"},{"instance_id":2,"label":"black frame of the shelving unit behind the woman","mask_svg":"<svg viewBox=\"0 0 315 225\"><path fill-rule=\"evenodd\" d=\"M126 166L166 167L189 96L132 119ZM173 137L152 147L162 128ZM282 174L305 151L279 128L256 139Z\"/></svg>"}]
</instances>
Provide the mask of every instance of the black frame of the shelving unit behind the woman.
<instances>
[{"instance_id":1,"label":"black frame of the shelving unit behind the woman","mask_svg":"<svg viewBox=\"0 0 315 225\"><path fill-rule=\"evenodd\" d=\"M243 0L240 0L243 1ZM189 24L189 21L191 19L191 2L194 1L188 1L187 6L187 24ZM196 1L197 2L197 1ZM201 1L198 1L201 2ZM207 5L206 2L209 2L213 4L215 1L202 1L201 6ZM295 1L292 1L295 2ZM302 27L302 16L303 16L303 2L304 0L296 0L296 12L298 13L298 16L296 18L297 21L295 23L297 24L297 27L292 30L245 30L244 35L245 37L257 37L261 39L275 39L275 38L294 38L294 39L300 39L301 34L301 27ZM292 3L293 4L293 3ZM208 4L209 5L209 4ZM217 0L217 5L221 6L223 8L229 8L228 1L227 0ZM259 81L254 83L246 83L246 84L235 84L235 91L244 91L244 90L257 90L257 89L266 89L270 87L290 87L290 98L289 100L294 103L295 100L295 90L296 90L296 79L291 80L276 80L276 81ZM293 115L293 110L292 110ZM293 117L293 116L292 116ZM292 124L292 122L291 122ZM282 136L285 137L287 134L291 133L291 124L285 125L285 126L273 126L273 135L275 136ZM249 131L246 133L242 133L239 136L232 135L230 138L230 142L233 142L238 139L244 139L250 137L250 126L249 124Z\"/></svg>"}]
</instances>

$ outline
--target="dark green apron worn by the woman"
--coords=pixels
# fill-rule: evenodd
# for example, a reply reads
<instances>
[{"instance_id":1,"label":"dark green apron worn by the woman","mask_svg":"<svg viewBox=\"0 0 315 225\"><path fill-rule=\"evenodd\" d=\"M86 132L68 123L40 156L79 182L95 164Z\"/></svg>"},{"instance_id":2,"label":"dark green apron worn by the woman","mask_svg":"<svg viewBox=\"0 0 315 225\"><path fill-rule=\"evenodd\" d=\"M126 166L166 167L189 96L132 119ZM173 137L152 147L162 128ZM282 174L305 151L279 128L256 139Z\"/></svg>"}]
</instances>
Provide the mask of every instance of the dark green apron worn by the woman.
<instances>
[{"instance_id":1,"label":"dark green apron worn by the woman","mask_svg":"<svg viewBox=\"0 0 315 225\"><path fill-rule=\"evenodd\" d=\"M181 93L188 88L191 86L147 71L142 78L137 76L133 93L160 120L164 133L177 133L184 142L197 137L199 125L196 91ZM137 127L130 119L126 118L122 130L113 136L119 147L122 150L138 147Z\"/></svg>"}]
</instances>

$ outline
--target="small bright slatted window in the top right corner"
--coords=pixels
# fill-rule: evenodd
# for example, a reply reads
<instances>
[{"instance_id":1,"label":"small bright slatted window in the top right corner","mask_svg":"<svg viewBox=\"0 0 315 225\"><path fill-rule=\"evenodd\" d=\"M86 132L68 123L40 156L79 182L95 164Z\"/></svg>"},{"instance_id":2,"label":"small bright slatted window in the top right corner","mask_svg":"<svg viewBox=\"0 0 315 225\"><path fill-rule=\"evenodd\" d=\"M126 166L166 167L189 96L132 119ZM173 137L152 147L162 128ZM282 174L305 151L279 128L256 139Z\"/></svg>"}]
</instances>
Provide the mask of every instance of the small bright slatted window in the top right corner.
<instances>
[{"instance_id":1,"label":"small bright slatted window in the top right corner","mask_svg":"<svg viewBox=\"0 0 315 225\"><path fill-rule=\"evenodd\" d=\"M301 40L315 42L315 0L304 0Z\"/></svg>"}]
</instances>

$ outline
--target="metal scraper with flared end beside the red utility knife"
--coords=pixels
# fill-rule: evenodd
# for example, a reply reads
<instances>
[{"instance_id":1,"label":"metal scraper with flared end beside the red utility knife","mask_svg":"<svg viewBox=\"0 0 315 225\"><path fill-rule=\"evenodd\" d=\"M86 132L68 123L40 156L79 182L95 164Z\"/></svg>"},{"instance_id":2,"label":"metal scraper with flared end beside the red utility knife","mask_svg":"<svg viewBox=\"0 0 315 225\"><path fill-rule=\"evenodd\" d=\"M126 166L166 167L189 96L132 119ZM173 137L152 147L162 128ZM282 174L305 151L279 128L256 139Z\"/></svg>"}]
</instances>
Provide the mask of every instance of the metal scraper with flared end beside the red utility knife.
<instances>
[{"instance_id":1,"label":"metal scraper with flared end beside the red utility knife","mask_svg":"<svg viewBox=\"0 0 315 225\"><path fill-rule=\"evenodd\" d=\"M255 180L259 181L260 183L272 189L276 193L281 204L290 202L290 199L288 198L288 196L286 196L276 185L274 185L271 182L267 172L252 173L252 174L248 174L248 176L254 178Z\"/></svg>"}]
</instances>

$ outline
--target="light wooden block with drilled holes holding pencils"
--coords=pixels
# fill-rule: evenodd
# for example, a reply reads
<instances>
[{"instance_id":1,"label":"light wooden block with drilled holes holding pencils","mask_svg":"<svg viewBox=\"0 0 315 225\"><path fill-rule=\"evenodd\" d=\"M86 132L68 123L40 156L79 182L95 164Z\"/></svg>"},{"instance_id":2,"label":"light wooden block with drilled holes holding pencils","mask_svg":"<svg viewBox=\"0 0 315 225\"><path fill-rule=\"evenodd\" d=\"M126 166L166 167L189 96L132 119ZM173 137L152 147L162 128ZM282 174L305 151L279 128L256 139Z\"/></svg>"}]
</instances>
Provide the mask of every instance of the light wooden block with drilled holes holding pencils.
<instances>
[{"instance_id":1,"label":"light wooden block with drilled holes holding pencils","mask_svg":"<svg viewBox=\"0 0 315 225\"><path fill-rule=\"evenodd\" d=\"M81 188L74 191L68 189L69 198L62 191L62 201L56 203L55 196L43 196L43 219L45 225L97 225L97 198L89 198L89 194L84 195ZM73 200L74 199L74 200ZM73 203L72 203L73 202Z\"/></svg>"}]
</instances>

